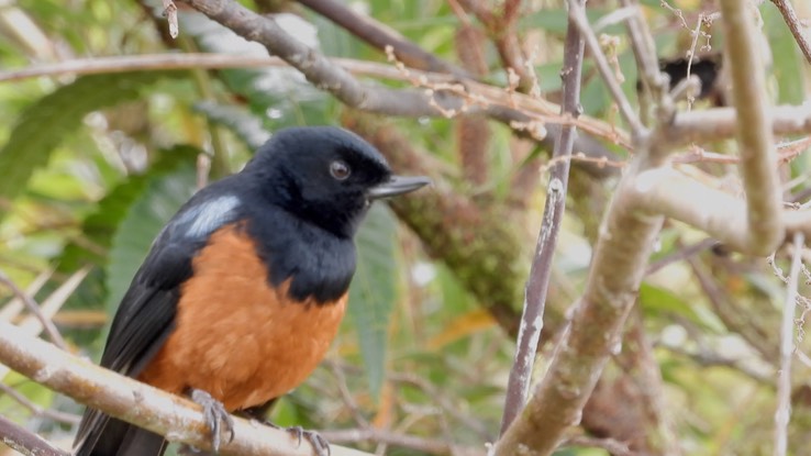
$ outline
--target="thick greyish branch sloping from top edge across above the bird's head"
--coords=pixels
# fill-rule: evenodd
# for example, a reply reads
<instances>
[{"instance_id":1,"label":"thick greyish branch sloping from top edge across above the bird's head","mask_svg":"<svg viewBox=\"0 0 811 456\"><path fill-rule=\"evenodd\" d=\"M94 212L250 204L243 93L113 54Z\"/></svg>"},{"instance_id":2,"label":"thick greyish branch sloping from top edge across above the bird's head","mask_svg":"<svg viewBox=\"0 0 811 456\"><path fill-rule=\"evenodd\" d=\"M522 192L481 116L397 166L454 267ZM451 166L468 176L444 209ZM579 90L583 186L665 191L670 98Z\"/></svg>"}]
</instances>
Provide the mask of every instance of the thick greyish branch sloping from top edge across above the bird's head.
<instances>
[{"instance_id":1,"label":"thick greyish branch sloping from top edge across above the bird's head","mask_svg":"<svg viewBox=\"0 0 811 456\"><path fill-rule=\"evenodd\" d=\"M465 80L454 86L457 90L388 89L362 85L345 69L332 65L331 60L318 51L309 48L287 34L271 18L260 16L233 0L185 0L195 9L220 24L231 29L246 40L263 44L270 54L279 56L301 71L313 86L332 93L349 108L367 112L402 116L443 116L485 114L510 125L530 121L574 123L586 132L602 136L618 144L626 145L627 135L614 126L595 119L582 118L577 121L560 119L559 107L542 99L522 93L510 94L502 88ZM429 93L430 92L430 93ZM470 101L475 100L475 103ZM495 100L500 100L493 102ZM537 140L537 138L536 138ZM578 141L579 143L579 141ZM579 144L578 144L579 145ZM593 145L586 142L585 153L593 152ZM600 147L602 157L613 156ZM587 168L591 169L591 168ZM600 169L603 176L612 175Z\"/></svg>"}]
</instances>

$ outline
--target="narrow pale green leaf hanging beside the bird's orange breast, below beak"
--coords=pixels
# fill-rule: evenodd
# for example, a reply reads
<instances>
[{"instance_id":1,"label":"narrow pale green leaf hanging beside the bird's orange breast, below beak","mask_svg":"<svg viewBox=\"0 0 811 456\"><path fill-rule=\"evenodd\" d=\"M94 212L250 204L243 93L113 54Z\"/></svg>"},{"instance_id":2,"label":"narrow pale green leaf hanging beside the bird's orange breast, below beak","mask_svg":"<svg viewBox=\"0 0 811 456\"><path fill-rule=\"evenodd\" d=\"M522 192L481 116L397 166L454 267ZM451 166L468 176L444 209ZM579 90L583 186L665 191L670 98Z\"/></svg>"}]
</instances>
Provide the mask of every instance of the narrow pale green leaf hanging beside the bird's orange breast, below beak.
<instances>
[{"instance_id":1,"label":"narrow pale green leaf hanging beside the bird's orange breast, below beak","mask_svg":"<svg viewBox=\"0 0 811 456\"><path fill-rule=\"evenodd\" d=\"M375 398L386 371L389 319L397 298L396 229L387 207L371 208L357 233L357 270L349 287L348 314L357 329L360 356Z\"/></svg>"}]
</instances>

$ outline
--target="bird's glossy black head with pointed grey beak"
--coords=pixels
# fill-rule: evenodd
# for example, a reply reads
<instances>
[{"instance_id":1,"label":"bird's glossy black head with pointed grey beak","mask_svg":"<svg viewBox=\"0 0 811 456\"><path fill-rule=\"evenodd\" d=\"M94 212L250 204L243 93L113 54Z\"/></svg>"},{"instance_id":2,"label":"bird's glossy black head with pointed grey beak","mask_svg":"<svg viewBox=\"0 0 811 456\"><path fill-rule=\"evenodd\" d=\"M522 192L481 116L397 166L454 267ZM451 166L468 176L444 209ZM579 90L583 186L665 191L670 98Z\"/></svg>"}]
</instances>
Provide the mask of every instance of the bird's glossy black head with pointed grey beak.
<instances>
[{"instance_id":1,"label":"bird's glossy black head with pointed grey beak","mask_svg":"<svg viewBox=\"0 0 811 456\"><path fill-rule=\"evenodd\" d=\"M371 201L430 182L393 175L374 146L332 126L277 132L243 173L260 177L258 190L274 204L344 237L355 234Z\"/></svg>"}]
</instances>

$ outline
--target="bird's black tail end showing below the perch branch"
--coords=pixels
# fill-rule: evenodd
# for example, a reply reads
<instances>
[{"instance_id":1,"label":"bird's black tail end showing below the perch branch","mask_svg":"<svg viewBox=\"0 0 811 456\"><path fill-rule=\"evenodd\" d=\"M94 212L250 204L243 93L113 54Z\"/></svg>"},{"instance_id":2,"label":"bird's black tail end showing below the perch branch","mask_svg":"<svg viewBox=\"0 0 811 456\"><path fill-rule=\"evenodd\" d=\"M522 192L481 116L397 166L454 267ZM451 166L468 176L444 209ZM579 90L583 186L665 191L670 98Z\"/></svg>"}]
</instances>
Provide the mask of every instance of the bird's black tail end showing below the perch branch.
<instances>
[{"instance_id":1,"label":"bird's black tail end showing below the perch branch","mask_svg":"<svg viewBox=\"0 0 811 456\"><path fill-rule=\"evenodd\" d=\"M76 456L160 456L166 449L163 435L90 409L79 425L76 445Z\"/></svg>"}]
</instances>

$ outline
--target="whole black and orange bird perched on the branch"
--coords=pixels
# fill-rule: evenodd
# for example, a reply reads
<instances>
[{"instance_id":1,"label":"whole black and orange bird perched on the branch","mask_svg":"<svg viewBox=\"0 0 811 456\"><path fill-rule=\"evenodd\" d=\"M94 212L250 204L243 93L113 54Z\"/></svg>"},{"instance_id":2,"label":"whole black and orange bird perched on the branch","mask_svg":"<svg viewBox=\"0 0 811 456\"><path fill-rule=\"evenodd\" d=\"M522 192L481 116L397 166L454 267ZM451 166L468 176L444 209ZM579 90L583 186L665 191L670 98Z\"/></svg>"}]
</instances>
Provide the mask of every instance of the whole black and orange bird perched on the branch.
<instances>
[{"instance_id":1,"label":"whole black and orange bird perched on the branch","mask_svg":"<svg viewBox=\"0 0 811 456\"><path fill-rule=\"evenodd\" d=\"M326 126L276 133L200 190L155 240L113 319L101 365L203 405L214 445L225 412L260 408L326 353L371 201L406 193L371 145ZM151 456L164 437L88 409L77 456Z\"/></svg>"}]
</instances>

